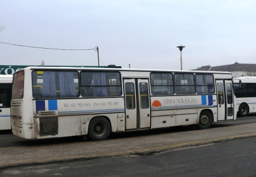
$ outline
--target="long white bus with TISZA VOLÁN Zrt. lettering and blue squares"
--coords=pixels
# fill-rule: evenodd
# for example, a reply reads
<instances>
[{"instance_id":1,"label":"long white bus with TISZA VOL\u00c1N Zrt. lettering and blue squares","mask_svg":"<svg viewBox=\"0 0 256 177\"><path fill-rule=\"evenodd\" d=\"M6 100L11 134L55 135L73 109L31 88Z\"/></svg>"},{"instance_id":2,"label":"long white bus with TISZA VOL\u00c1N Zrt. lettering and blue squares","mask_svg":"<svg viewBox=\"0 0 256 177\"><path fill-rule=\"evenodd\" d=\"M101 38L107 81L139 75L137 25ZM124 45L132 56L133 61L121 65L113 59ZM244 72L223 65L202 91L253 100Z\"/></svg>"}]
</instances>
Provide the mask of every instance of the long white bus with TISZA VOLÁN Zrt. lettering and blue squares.
<instances>
[{"instance_id":1,"label":"long white bus with TISZA VOL\u00c1N Zrt. lettering and blue squares","mask_svg":"<svg viewBox=\"0 0 256 177\"><path fill-rule=\"evenodd\" d=\"M29 67L13 75L12 131L88 136L236 119L230 72Z\"/></svg>"}]
</instances>

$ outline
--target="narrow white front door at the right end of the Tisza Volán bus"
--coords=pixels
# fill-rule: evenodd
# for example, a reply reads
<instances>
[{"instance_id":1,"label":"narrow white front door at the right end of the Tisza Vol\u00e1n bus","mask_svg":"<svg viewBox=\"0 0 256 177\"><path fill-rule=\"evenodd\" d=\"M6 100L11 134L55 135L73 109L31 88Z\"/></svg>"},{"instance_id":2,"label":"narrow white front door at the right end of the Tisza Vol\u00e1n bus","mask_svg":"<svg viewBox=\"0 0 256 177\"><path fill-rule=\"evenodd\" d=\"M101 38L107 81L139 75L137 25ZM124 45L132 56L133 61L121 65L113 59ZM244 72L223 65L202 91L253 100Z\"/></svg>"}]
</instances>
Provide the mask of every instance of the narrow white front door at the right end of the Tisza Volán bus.
<instances>
[{"instance_id":1,"label":"narrow white front door at the right end of the Tisza Vol\u00e1n bus","mask_svg":"<svg viewBox=\"0 0 256 177\"><path fill-rule=\"evenodd\" d=\"M216 80L218 121L234 119L232 80Z\"/></svg>"}]
</instances>

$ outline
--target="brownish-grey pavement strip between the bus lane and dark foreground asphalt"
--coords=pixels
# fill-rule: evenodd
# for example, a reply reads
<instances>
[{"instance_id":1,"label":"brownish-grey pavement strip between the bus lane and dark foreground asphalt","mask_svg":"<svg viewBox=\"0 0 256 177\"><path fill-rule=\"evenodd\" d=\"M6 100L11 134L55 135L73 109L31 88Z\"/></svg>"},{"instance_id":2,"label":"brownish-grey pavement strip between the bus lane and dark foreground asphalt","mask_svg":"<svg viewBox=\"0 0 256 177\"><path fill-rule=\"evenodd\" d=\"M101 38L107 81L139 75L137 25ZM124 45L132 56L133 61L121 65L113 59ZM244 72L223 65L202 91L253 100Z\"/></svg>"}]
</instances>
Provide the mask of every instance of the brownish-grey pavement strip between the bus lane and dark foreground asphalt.
<instances>
[{"instance_id":1,"label":"brownish-grey pavement strip between the bus lane and dark foreground asphalt","mask_svg":"<svg viewBox=\"0 0 256 177\"><path fill-rule=\"evenodd\" d=\"M79 141L40 145L23 144L0 148L0 169L18 165L152 154L252 136L256 136L256 123L210 128L207 130L120 137L105 141ZM24 141L26 140L24 139Z\"/></svg>"}]
</instances>

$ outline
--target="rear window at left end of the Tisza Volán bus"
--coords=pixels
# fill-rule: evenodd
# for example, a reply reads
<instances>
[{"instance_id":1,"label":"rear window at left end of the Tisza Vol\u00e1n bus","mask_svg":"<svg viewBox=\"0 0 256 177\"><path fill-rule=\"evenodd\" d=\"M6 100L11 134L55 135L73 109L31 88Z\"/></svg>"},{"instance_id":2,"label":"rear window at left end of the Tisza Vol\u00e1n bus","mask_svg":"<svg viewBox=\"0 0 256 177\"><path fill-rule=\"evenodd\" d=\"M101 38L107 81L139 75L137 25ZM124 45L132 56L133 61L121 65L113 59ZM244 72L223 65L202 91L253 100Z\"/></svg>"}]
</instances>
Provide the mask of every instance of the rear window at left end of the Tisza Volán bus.
<instances>
[{"instance_id":1,"label":"rear window at left end of the Tisza Vol\u00e1n bus","mask_svg":"<svg viewBox=\"0 0 256 177\"><path fill-rule=\"evenodd\" d=\"M13 75L12 99L22 99L24 88L24 71Z\"/></svg>"}]
</instances>

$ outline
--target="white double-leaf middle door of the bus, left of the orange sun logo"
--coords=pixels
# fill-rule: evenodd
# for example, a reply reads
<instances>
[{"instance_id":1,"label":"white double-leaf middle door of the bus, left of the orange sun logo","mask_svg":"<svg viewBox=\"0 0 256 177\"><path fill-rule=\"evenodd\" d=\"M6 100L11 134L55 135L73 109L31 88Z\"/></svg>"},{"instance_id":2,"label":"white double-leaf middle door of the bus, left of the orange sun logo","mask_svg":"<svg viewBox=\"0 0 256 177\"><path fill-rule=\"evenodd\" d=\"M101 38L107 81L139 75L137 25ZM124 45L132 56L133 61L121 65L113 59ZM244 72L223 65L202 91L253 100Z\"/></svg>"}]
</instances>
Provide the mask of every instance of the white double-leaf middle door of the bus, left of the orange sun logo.
<instances>
[{"instance_id":1,"label":"white double-leaf middle door of the bus, left of the orange sun logo","mask_svg":"<svg viewBox=\"0 0 256 177\"><path fill-rule=\"evenodd\" d=\"M150 128L149 80L124 79L126 130Z\"/></svg>"}]
</instances>

